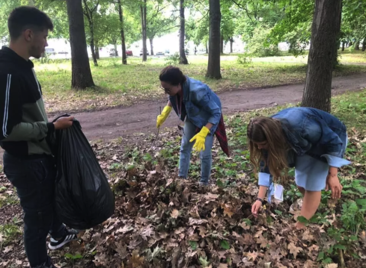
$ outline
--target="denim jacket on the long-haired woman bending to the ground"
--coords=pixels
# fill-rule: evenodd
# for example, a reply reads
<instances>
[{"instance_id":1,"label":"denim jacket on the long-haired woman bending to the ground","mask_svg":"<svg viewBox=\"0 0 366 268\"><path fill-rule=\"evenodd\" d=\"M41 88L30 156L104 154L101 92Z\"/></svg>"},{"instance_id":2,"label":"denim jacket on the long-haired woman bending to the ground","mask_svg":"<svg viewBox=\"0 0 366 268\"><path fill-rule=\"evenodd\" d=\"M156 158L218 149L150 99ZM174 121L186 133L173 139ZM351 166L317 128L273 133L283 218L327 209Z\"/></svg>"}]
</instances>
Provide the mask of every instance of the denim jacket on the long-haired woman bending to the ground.
<instances>
[{"instance_id":1,"label":"denim jacket on the long-haired woman bending to the ground","mask_svg":"<svg viewBox=\"0 0 366 268\"><path fill-rule=\"evenodd\" d=\"M272 118L281 122L283 132L292 150L287 155L289 167L295 166L296 156L307 154L327 162L332 167L342 167L350 162L343 159L344 142L347 142L346 126L335 116L322 110L305 107L284 109ZM267 152L263 152L267 158ZM265 162L260 163L259 185L270 187L272 176Z\"/></svg>"}]
</instances>

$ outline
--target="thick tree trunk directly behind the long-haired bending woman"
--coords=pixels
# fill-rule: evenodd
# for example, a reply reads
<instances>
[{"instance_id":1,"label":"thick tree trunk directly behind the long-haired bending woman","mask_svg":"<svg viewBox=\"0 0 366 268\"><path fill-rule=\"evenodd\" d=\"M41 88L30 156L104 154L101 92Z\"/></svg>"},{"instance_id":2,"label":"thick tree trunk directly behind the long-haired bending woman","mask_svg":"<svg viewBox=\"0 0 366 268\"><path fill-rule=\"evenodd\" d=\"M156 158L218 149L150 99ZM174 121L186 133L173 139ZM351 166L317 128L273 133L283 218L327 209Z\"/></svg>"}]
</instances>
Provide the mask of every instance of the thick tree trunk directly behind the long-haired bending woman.
<instances>
[{"instance_id":1,"label":"thick tree trunk directly behind the long-haired bending woman","mask_svg":"<svg viewBox=\"0 0 366 268\"><path fill-rule=\"evenodd\" d=\"M330 111L332 61L342 0L316 0L301 105Z\"/></svg>"}]
</instances>

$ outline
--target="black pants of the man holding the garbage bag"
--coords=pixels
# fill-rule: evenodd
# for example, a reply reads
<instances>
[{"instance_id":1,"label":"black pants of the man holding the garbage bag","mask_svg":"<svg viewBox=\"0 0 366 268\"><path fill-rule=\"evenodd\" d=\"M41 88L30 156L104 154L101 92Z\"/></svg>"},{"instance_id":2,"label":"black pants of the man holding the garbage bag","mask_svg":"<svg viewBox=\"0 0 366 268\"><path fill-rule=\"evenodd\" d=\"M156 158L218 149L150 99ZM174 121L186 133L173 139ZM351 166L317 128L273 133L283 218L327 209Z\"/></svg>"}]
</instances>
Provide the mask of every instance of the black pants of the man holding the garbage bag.
<instances>
[{"instance_id":1,"label":"black pants of the man holding the garbage bag","mask_svg":"<svg viewBox=\"0 0 366 268\"><path fill-rule=\"evenodd\" d=\"M31 267L49 263L46 237L62 237L66 227L54 210L54 158L19 159L4 154L4 173L16 187L24 212L24 247Z\"/></svg>"}]
</instances>

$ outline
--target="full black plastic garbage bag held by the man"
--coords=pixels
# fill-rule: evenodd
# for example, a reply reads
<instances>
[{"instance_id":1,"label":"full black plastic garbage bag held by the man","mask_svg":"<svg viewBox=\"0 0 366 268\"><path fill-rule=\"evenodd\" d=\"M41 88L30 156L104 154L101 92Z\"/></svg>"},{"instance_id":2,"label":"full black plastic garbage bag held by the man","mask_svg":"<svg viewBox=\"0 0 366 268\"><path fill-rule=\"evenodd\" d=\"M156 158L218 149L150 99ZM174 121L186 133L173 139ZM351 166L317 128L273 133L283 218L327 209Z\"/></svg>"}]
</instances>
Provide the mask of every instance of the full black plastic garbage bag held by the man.
<instances>
[{"instance_id":1,"label":"full black plastic garbage bag held by the man","mask_svg":"<svg viewBox=\"0 0 366 268\"><path fill-rule=\"evenodd\" d=\"M57 130L55 138L51 147L57 163L57 212L67 226L90 229L113 215L114 195L79 121Z\"/></svg>"}]
</instances>

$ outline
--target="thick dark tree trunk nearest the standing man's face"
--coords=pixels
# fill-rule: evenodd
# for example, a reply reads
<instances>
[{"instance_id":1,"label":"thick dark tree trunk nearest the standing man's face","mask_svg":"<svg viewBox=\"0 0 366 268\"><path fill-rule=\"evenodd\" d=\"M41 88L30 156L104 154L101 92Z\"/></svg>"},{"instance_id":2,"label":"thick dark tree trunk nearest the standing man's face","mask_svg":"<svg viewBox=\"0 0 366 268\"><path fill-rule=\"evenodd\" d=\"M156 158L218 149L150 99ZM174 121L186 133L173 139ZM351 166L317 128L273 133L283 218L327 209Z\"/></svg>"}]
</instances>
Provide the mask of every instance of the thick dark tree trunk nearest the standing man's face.
<instances>
[{"instance_id":1,"label":"thick dark tree trunk nearest the standing man's face","mask_svg":"<svg viewBox=\"0 0 366 268\"><path fill-rule=\"evenodd\" d=\"M84 89L94 86L85 38L82 0L66 0L71 45L71 87Z\"/></svg>"}]
</instances>

